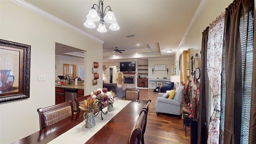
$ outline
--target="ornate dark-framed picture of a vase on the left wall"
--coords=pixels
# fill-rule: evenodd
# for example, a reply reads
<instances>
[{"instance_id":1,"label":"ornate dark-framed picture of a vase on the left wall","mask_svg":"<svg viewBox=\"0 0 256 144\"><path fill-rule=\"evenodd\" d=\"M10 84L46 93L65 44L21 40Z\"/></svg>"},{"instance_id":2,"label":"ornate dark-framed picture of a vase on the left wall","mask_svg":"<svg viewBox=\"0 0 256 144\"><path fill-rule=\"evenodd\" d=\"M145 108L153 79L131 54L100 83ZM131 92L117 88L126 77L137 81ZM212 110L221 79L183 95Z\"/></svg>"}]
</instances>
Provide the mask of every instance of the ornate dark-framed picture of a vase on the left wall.
<instances>
[{"instance_id":1,"label":"ornate dark-framed picture of a vase on the left wall","mask_svg":"<svg viewBox=\"0 0 256 144\"><path fill-rule=\"evenodd\" d=\"M30 48L0 39L0 102L30 97Z\"/></svg>"}]
</instances>

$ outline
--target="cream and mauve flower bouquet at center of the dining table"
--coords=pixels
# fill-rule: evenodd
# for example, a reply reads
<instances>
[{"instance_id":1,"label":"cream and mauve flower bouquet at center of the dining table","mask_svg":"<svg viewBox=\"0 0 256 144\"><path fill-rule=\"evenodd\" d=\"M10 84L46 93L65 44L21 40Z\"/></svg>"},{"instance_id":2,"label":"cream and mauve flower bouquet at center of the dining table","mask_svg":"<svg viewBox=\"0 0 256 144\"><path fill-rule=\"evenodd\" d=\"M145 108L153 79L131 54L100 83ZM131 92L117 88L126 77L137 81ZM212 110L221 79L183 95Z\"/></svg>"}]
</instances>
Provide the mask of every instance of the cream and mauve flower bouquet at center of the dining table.
<instances>
[{"instance_id":1,"label":"cream and mauve flower bouquet at center of the dining table","mask_svg":"<svg viewBox=\"0 0 256 144\"><path fill-rule=\"evenodd\" d=\"M105 104L113 104L115 102L114 97L116 94L112 90L108 92L107 88L98 88L91 92L91 96L96 99L98 106L105 106Z\"/></svg>"}]
</instances>

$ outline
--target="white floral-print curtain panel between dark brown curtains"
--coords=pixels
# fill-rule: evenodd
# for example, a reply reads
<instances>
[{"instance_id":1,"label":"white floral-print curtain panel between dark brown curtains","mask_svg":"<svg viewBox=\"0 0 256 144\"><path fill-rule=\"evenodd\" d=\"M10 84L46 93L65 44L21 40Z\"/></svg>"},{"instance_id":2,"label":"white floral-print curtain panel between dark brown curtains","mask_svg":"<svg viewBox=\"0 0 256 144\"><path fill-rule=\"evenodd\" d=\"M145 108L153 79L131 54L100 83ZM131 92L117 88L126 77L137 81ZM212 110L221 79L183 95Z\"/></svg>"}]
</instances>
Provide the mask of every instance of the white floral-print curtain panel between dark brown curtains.
<instances>
[{"instance_id":1,"label":"white floral-print curtain panel between dark brown curtains","mask_svg":"<svg viewBox=\"0 0 256 144\"><path fill-rule=\"evenodd\" d=\"M210 25L207 44L207 72L212 90L212 105L214 111L208 130L208 144L219 143L220 129L220 86L222 47L224 35L224 14L218 16Z\"/></svg>"}]
</instances>

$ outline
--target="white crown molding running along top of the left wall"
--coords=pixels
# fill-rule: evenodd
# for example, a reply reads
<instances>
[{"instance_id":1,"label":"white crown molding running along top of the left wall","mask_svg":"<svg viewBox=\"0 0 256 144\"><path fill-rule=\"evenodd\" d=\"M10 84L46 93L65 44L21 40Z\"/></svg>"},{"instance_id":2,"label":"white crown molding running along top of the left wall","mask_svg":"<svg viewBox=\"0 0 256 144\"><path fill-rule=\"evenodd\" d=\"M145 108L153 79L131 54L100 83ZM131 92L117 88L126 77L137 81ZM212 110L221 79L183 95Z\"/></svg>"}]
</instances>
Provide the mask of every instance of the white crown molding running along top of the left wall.
<instances>
[{"instance_id":1,"label":"white crown molding running along top of the left wall","mask_svg":"<svg viewBox=\"0 0 256 144\"><path fill-rule=\"evenodd\" d=\"M46 12L46 11L44 11L44 10L42 10L42 9L40 9L40 8L38 8L38 7L32 5L32 4L30 4L30 3L28 3L24 0L11 0L11 1L16 3L16 4L19 4L20 6L23 6L24 8L32 10L33 12L36 12L36 13L38 13L38 14L46 17L46 18L49 18L50 20L53 20L54 22L62 24L63 26L66 26L66 27L68 27L68 28L70 28L70 29L72 29L76 32L79 32L80 34L83 34L84 36L87 36L87 37L89 37L93 40L96 40L97 42L100 42L101 44L104 43L103 40L100 40L100 39L96 38L95 36L92 36L92 35L88 34L87 32L84 32L83 30L65 22L64 20L61 20L60 18L57 18L56 16L53 16L52 14L49 14L48 12Z\"/></svg>"}]
</instances>

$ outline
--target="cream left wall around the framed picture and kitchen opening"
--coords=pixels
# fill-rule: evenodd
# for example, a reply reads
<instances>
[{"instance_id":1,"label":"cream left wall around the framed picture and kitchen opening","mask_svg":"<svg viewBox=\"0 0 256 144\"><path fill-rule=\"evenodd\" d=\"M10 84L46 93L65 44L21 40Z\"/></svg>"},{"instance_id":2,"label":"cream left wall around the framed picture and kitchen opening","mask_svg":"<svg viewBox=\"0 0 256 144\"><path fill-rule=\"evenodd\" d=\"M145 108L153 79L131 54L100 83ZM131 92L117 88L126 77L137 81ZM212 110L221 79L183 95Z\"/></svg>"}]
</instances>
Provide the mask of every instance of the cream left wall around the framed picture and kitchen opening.
<instances>
[{"instance_id":1,"label":"cream left wall around the framed picture and kitchen opening","mask_svg":"<svg viewBox=\"0 0 256 144\"><path fill-rule=\"evenodd\" d=\"M7 0L0 1L0 38L31 46L30 98L0 104L1 144L40 130L37 108L55 104L55 42L86 51L85 94L102 88L102 76L92 86L93 62L102 68L102 44L95 40ZM46 80L39 82L39 74Z\"/></svg>"}]
</instances>

